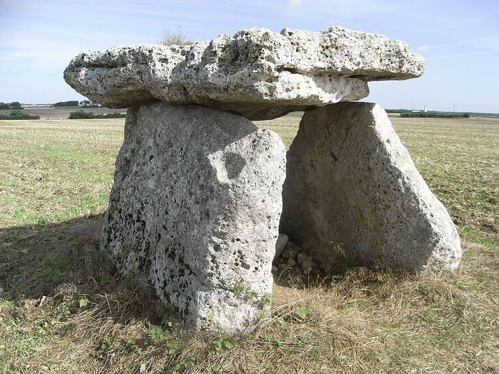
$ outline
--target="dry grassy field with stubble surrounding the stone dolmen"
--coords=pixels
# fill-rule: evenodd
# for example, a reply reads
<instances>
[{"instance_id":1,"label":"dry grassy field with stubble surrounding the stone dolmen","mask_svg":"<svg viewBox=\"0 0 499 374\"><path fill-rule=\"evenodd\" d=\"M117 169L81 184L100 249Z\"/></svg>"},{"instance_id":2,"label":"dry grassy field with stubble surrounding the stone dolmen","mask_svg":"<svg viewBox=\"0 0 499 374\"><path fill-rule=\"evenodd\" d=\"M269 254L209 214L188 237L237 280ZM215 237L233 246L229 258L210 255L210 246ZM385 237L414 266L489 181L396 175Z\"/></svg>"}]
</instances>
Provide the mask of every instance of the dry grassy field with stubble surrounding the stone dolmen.
<instances>
[{"instance_id":1,"label":"dry grassy field with stubble surrounding the stone dolmen","mask_svg":"<svg viewBox=\"0 0 499 374\"><path fill-rule=\"evenodd\" d=\"M498 372L499 119L391 119L459 228L457 273L276 279L234 336L186 331L99 255L123 119L0 121L0 373ZM299 121L257 125L289 146Z\"/></svg>"}]
</instances>

